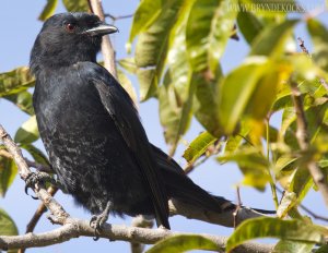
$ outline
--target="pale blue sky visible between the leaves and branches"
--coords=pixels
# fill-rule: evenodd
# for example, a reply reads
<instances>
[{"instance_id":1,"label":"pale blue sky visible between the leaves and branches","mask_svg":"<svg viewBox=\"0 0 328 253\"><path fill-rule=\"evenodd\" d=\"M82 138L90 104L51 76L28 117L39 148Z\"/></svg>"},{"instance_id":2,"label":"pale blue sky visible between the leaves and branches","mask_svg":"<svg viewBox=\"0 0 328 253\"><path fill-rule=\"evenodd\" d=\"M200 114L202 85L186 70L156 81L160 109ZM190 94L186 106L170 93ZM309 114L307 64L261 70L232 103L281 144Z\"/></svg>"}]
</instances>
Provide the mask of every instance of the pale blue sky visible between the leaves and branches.
<instances>
[{"instance_id":1,"label":"pale blue sky visible between the leaves and branches","mask_svg":"<svg viewBox=\"0 0 328 253\"><path fill-rule=\"evenodd\" d=\"M43 23L37 21L37 16L42 12L43 4L46 1L26 1L26 0L2 0L1 1L1 15L0 15L0 72L10 71L21 65L27 65L30 59L30 51L33 46L34 39L38 34ZM312 4L323 1L301 1L302 3ZM105 12L113 15L131 14L136 10L138 0L120 0L109 1L103 0L103 7ZM65 12L65 8L59 3L56 13ZM328 19L320 16L320 19L327 25ZM114 47L117 51L117 59L127 57L125 44L129 36L129 29L131 25L131 19L121 20L116 22L116 26L120 33L110 36ZM304 25L300 25L295 32L295 37L302 37L305 44L308 45L311 50L311 39L306 34ZM230 40L225 55L222 58L222 68L226 73L234 67L238 65L241 61L247 56L248 47L246 43L241 38L241 41ZM138 82L133 77L133 85L138 87ZM143 122L143 126L148 133L149 140L167 152L163 137L163 129L161 128L157 113L157 103L155 99L150 99L147 103L140 105L140 116ZM10 103L0 99L0 123L8 130L13 136L17 128L28 119L28 116L21 112L15 106ZM274 124L279 123L279 117L272 119ZM191 142L200 132L202 128L194 120L190 131L186 134L184 140ZM40 141L37 142L38 147L43 148ZM184 166L185 161L181 158L181 154L185 146L179 145L176 160ZM243 177L238 168L233 164L219 165L215 160L210 159L202 166L198 167L192 173L191 179L202 186L203 189L212 192L215 195L222 195L227 200L236 201L235 185L242 181ZM253 206L258 208L274 209L273 202L269 188L265 192L258 192L251 188L242 186L242 201L246 206ZM56 200L62 204L62 206L73 217L90 219L91 215L73 204L72 197L58 193ZM317 214L325 215L326 208L319 194L312 192L307 195L304 204L311 208L314 208ZM5 198L0 198L0 207L5 209L17 225L20 233L24 233L26 224L30 221L35 209L39 205L39 201L32 200L31 196L24 193L24 182L16 177L13 185L9 189ZM131 219L109 217L109 222L113 224L126 224L130 225ZM223 228L206 224L198 220L189 220L184 217L172 217L169 219L173 231L186 231L186 232L201 232L213 233L220 236L229 236L232 233L232 229ZM35 232L43 232L54 229L57 226L52 226L45 216L37 225ZM30 249L28 252L35 253L67 253L67 252L129 252L129 244L126 242L109 242L108 240L101 239L94 242L92 238L79 238L72 239L69 242L56 244L43 249Z\"/></svg>"}]
</instances>

